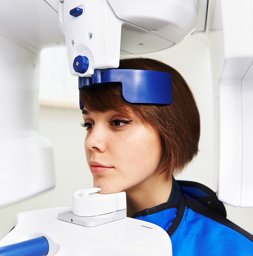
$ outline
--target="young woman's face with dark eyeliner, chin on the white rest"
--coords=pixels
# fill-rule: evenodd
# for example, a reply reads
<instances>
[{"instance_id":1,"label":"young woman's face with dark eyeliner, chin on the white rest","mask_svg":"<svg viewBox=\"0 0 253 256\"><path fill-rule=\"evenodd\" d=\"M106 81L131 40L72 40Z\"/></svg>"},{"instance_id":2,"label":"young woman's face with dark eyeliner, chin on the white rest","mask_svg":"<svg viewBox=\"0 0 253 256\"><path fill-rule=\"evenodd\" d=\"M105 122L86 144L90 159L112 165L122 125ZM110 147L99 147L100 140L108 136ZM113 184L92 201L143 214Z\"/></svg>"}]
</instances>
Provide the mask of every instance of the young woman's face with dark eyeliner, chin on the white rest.
<instances>
[{"instance_id":1,"label":"young woman's face with dark eyeliner, chin on the white rest","mask_svg":"<svg viewBox=\"0 0 253 256\"><path fill-rule=\"evenodd\" d=\"M158 133L135 113L83 110L85 153L94 187L102 193L128 191L155 179L160 162Z\"/></svg>"}]
</instances>

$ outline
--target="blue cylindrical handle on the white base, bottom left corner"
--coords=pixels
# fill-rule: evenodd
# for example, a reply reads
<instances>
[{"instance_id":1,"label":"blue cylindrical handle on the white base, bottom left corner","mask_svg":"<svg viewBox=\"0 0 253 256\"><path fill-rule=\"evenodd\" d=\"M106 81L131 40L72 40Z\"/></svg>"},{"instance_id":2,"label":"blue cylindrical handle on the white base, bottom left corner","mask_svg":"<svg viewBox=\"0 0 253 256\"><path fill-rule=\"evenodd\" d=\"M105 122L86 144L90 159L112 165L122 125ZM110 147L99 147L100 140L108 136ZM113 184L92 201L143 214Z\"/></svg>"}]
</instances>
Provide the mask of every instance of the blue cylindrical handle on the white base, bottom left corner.
<instances>
[{"instance_id":1,"label":"blue cylindrical handle on the white base, bottom left corner","mask_svg":"<svg viewBox=\"0 0 253 256\"><path fill-rule=\"evenodd\" d=\"M46 256L48 251L48 240L44 236L40 236L20 243L0 247L0 256Z\"/></svg>"}]
</instances>

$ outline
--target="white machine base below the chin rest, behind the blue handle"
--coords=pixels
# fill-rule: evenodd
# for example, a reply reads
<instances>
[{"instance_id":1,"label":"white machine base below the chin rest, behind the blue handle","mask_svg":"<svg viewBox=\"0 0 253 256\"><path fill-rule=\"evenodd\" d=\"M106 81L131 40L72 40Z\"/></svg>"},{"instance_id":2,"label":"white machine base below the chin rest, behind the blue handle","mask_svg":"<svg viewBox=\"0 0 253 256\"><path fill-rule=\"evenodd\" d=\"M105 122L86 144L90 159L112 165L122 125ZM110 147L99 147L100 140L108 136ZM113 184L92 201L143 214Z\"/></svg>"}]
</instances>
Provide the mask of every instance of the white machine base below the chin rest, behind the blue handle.
<instances>
[{"instance_id":1,"label":"white machine base below the chin rest, behind the blue handle","mask_svg":"<svg viewBox=\"0 0 253 256\"><path fill-rule=\"evenodd\" d=\"M93 228L58 220L69 207L22 212L16 227L0 241L0 247L44 236L48 256L171 256L168 233L143 220L124 218Z\"/></svg>"}]
</instances>

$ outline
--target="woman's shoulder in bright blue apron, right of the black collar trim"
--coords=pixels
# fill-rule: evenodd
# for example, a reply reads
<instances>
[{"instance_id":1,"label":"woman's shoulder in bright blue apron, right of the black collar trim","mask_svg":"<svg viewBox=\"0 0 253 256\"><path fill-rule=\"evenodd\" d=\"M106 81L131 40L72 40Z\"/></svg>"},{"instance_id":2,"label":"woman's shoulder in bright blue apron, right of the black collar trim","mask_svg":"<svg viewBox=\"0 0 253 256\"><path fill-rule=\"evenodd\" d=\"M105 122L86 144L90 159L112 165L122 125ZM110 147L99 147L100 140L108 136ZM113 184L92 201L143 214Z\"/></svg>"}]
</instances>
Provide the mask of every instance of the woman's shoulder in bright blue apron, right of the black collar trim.
<instances>
[{"instance_id":1,"label":"woman's shoulder in bright blue apron, right of the black collar trim","mask_svg":"<svg viewBox=\"0 0 253 256\"><path fill-rule=\"evenodd\" d=\"M190 189L184 188L187 183L178 184L183 192L180 204L184 210L180 223L170 233L173 255L193 255L197 252L198 255L253 255L253 236L250 233L226 219L223 210L207 207L205 204L208 201L199 202L203 202L204 196L208 200L208 196L193 189L192 184ZM215 203L215 207L220 205L219 202Z\"/></svg>"}]
</instances>

